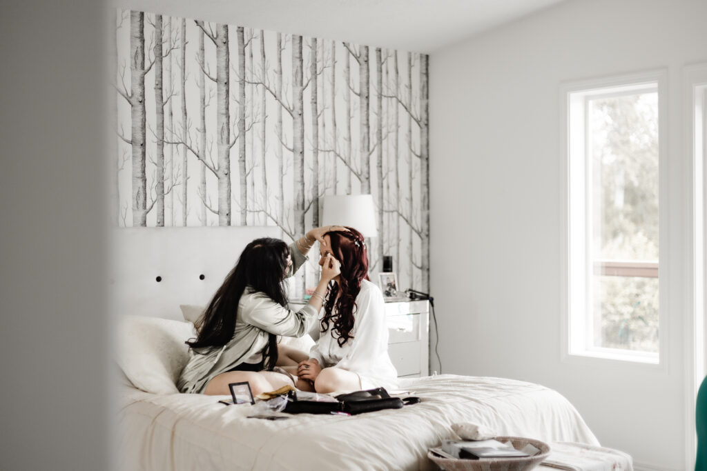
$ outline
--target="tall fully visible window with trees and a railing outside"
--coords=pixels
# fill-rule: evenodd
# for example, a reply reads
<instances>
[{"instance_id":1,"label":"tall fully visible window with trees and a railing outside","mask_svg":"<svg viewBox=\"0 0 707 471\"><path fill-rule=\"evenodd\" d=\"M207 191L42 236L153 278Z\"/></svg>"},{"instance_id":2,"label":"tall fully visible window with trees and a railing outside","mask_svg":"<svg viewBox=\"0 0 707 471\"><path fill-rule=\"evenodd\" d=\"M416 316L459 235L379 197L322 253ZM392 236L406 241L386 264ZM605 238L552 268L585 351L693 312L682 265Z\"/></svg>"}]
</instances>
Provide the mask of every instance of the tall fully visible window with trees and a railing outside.
<instances>
[{"instance_id":1,"label":"tall fully visible window with trees and a railing outside","mask_svg":"<svg viewBox=\"0 0 707 471\"><path fill-rule=\"evenodd\" d=\"M658 93L655 77L563 91L569 354L658 363Z\"/></svg>"}]
</instances>

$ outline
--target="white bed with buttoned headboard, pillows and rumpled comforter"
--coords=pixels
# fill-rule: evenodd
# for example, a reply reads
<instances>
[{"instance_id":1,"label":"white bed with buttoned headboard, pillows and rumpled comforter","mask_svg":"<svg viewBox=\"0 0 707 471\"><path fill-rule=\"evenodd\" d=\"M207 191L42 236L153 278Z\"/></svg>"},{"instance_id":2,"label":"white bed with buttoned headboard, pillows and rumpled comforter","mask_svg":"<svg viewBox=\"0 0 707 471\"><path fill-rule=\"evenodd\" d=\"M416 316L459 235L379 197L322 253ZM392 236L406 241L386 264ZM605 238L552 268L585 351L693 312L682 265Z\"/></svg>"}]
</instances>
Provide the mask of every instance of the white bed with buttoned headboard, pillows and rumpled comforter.
<instances>
[{"instance_id":1,"label":"white bed with buttoned headboard, pillows and rumpled comforter","mask_svg":"<svg viewBox=\"0 0 707 471\"><path fill-rule=\"evenodd\" d=\"M193 326L181 304L204 305L255 237L274 228L122 229L115 234L112 306L119 388L121 470L428 470L428 448L452 439L451 424L476 422L498 434L598 445L575 407L555 390L505 378L402 378L421 398L402 410L363 415L247 418L251 405L180 394ZM283 339L305 347L310 338ZM304 344L298 342L305 342Z\"/></svg>"}]
</instances>

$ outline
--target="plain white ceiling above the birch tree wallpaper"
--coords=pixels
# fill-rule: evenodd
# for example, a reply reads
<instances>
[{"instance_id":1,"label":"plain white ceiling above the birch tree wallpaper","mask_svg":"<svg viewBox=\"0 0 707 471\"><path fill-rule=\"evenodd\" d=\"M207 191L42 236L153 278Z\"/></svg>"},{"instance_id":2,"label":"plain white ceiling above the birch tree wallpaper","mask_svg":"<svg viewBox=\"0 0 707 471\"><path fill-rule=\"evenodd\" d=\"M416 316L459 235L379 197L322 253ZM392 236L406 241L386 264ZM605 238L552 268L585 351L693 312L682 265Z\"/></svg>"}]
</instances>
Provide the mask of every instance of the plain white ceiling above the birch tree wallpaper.
<instances>
[{"instance_id":1,"label":"plain white ceiling above the birch tree wallpaper","mask_svg":"<svg viewBox=\"0 0 707 471\"><path fill-rule=\"evenodd\" d=\"M431 53L566 0L111 0L230 25Z\"/></svg>"}]
</instances>

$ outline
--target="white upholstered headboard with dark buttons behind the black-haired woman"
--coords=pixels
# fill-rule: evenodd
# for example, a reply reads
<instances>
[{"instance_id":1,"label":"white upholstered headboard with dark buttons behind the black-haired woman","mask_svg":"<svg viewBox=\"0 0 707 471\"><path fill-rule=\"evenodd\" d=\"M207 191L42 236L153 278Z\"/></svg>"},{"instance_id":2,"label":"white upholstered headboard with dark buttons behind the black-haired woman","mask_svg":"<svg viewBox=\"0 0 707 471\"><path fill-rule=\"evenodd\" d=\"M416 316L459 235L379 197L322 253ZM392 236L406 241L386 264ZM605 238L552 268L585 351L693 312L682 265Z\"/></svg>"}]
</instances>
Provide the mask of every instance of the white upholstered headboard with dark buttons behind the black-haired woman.
<instances>
[{"instance_id":1,"label":"white upholstered headboard with dark buttons behind the black-haired woman","mask_svg":"<svg viewBox=\"0 0 707 471\"><path fill-rule=\"evenodd\" d=\"M278 227L138 227L111 234L112 314L182 320L180 304L206 305L258 237Z\"/></svg>"}]
</instances>

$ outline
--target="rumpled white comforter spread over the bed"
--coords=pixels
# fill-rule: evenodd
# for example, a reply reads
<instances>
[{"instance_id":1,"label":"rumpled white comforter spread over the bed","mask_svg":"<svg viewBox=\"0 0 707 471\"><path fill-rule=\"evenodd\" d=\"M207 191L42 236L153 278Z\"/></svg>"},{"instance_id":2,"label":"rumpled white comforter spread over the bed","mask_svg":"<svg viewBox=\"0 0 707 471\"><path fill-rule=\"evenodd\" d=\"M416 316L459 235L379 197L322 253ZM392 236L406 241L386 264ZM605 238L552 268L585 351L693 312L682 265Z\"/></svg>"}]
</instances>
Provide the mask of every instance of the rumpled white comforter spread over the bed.
<instances>
[{"instance_id":1,"label":"rumpled white comforter spread over the bed","mask_svg":"<svg viewBox=\"0 0 707 471\"><path fill-rule=\"evenodd\" d=\"M428 448L450 425L477 422L499 435L598 445L571 403L554 390L501 378L440 375L400 381L421 403L354 417L248 419L252 406L223 397L125 391L120 469L428 470Z\"/></svg>"}]
</instances>

